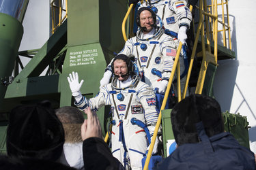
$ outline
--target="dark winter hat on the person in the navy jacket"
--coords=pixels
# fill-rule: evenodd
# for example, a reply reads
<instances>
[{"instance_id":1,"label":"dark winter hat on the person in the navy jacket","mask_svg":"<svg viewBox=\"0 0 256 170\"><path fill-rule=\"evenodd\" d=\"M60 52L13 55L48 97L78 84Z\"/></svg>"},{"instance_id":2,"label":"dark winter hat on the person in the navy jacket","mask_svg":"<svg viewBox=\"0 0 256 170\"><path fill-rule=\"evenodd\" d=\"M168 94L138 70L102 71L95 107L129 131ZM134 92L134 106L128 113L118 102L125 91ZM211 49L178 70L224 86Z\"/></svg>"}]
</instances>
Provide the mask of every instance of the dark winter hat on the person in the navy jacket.
<instances>
[{"instance_id":1,"label":"dark winter hat on the person in the navy jacket","mask_svg":"<svg viewBox=\"0 0 256 170\"><path fill-rule=\"evenodd\" d=\"M179 146L199 142L195 124L200 121L203 122L208 137L224 131L221 107L212 97L190 95L173 107L171 124Z\"/></svg>"}]
</instances>

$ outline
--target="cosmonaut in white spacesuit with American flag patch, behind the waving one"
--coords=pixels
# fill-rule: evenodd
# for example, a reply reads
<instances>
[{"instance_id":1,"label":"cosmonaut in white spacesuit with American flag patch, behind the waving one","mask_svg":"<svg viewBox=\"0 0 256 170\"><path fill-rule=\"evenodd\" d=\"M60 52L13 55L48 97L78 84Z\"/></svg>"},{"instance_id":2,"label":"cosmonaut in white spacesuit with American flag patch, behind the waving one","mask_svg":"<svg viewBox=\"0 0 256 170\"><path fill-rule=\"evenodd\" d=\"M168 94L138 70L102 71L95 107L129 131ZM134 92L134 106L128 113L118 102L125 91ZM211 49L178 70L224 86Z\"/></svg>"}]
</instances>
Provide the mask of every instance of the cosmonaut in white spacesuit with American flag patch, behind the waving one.
<instances>
[{"instance_id":1,"label":"cosmonaut in white spacesuit with American flag patch, behind the waving one","mask_svg":"<svg viewBox=\"0 0 256 170\"><path fill-rule=\"evenodd\" d=\"M161 27L156 26L156 14L148 7L141 7L138 10L136 22L140 28L137 35L126 41L119 54L134 56L141 81L153 90L158 89L159 93L165 93L178 41L175 37L165 34ZM111 65L109 65L100 85L107 84L111 75Z\"/></svg>"}]
</instances>

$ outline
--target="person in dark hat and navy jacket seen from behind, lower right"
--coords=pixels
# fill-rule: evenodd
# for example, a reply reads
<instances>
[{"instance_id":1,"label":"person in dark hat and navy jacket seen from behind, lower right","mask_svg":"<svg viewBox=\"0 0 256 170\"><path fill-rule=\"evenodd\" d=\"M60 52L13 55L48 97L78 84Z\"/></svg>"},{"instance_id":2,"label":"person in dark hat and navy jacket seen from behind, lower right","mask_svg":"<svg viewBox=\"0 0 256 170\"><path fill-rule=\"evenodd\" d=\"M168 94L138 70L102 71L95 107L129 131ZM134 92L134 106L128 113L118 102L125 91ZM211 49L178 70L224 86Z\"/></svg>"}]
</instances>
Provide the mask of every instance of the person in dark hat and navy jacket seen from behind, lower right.
<instances>
[{"instance_id":1,"label":"person in dark hat and navy jacket seen from behind, lower right","mask_svg":"<svg viewBox=\"0 0 256 170\"><path fill-rule=\"evenodd\" d=\"M256 168L253 152L224 131L221 107L212 97L186 97L173 107L171 124L178 147L157 169Z\"/></svg>"}]
</instances>

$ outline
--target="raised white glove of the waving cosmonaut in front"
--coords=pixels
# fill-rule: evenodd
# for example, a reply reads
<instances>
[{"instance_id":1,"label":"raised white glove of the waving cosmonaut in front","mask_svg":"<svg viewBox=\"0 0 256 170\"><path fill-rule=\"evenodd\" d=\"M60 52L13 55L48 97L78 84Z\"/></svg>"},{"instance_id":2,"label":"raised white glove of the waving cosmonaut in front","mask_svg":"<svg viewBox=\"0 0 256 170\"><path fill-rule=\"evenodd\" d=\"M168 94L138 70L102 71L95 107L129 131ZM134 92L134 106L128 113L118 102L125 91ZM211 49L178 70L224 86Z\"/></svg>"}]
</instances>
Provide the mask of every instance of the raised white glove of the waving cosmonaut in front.
<instances>
[{"instance_id":1,"label":"raised white glove of the waving cosmonaut in front","mask_svg":"<svg viewBox=\"0 0 256 170\"><path fill-rule=\"evenodd\" d=\"M81 82L79 83L79 73L74 73L74 71L72 71L72 74L70 73L70 76L68 77L68 82L70 83L70 90L72 92L72 96L73 97L80 97L81 92L80 92L80 88L83 84L83 80L81 80Z\"/></svg>"}]
</instances>

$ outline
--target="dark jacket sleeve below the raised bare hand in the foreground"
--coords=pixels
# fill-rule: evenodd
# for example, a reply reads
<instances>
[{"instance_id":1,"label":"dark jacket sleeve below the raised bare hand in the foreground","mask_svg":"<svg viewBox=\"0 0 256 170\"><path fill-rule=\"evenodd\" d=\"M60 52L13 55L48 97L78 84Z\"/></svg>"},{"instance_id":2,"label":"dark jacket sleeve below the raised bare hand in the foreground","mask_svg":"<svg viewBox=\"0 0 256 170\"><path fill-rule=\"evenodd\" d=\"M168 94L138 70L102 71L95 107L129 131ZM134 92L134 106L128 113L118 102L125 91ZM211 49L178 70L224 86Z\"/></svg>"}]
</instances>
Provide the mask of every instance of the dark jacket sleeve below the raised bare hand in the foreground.
<instances>
[{"instance_id":1,"label":"dark jacket sleeve below the raised bare hand in the foreground","mask_svg":"<svg viewBox=\"0 0 256 170\"><path fill-rule=\"evenodd\" d=\"M83 141L83 160L85 169L124 169L122 164L113 157L109 146L98 137L90 137Z\"/></svg>"}]
</instances>

